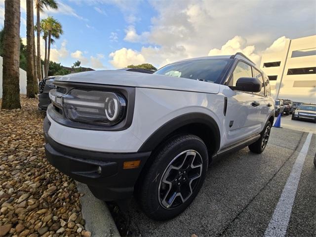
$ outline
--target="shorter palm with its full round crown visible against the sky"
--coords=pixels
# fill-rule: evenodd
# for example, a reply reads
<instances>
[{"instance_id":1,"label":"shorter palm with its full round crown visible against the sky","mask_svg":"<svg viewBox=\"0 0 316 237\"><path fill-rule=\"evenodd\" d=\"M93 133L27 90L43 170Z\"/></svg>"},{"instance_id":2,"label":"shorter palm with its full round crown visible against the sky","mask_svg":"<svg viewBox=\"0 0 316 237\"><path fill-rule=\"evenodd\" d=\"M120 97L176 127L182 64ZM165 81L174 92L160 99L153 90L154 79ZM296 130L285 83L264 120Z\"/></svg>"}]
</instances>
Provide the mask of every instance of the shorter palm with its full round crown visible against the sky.
<instances>
[{"instance_id":1,"label":"shorter palm with its full round crown visible against the sky","mask_svg":"<svg viewBox=\"0 0 316 237\"><path fill-rule=\"evenodd\" d=\"M48 69L49 69L50 45L53 40L52 37L54 37L55 39L59 39L60 35L62 35L64 32L63 32L62 25L60 24L60 22L51 16L42 20L42 29L44 32L44 36L46 36L46 38L44 38L44 40L46 39L45 44L48 44L47 45L47 58L45 60L45 76L47 77ZM48 37L48 40L47 40L47 37Z\"/></svg>"}]
</instances>

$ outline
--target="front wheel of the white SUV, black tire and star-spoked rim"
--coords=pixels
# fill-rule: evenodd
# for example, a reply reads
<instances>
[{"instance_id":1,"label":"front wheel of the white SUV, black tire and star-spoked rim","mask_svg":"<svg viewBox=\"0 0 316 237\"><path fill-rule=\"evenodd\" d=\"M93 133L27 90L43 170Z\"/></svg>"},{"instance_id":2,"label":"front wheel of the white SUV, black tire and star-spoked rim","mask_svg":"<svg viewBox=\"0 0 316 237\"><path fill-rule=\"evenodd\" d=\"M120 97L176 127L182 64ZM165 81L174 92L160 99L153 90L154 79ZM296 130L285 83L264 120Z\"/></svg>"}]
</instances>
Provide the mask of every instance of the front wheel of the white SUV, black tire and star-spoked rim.
<instances>
[{"instance_id":1,"label":"front wheel of the white SUV, black tire and star-spoked rim","mask_svg":"<svg viewBox=\"0 0 316 237\"><path fill-rule=\"evenodd\" d=\"M197 196L208 166L207 148L195 135L178 135L153 158L138 186L137 201L149 218L169 220L182 213Z\"/></svg>"}]
</instances>

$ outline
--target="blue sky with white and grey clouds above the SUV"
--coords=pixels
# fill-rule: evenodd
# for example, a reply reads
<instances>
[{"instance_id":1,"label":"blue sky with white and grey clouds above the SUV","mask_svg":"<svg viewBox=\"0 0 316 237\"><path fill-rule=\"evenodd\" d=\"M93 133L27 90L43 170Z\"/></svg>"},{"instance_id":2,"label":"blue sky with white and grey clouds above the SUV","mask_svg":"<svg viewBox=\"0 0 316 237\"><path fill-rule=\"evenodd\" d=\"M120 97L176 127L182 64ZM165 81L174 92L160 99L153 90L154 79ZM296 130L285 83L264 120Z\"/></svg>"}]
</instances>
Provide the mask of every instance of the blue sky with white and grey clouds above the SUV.
<instances>
[{"instance_id":1,"label":"blue sky with white and grey clouds above the SUV","mask_svg":"<svg viewBox=\"0 0 316 237\"><path fill-rule=\"evenodd\" d=\"M287 38L316 34L314 0L57 0L63 26L52 59L94 69L241 51L255 61ZM0 0L3 25L4 0ZM21 37L26 36L21 0Z\"/></svg>"}]
</instances>

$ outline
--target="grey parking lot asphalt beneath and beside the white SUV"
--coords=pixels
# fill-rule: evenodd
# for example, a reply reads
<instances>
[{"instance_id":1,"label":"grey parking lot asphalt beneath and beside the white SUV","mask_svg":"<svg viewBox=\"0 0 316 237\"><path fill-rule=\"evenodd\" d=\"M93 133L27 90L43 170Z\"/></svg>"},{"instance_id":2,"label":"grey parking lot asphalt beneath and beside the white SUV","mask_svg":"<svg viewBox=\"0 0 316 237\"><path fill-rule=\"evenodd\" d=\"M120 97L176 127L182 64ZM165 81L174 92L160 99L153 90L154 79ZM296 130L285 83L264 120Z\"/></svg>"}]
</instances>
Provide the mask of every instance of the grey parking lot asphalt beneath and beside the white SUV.
<instances>
[{"instance_id":1,"label":"grey parking lot asphalt beneath and beside the white SUV","mask_svg":"<svg viewBox=\"0 0 316 237\"><path fill-rule=\"evenodd\" d=\"M195 201L172 220L149 219L135 200L128 215L146 237L264 236L307 136L303 131L273 128L262 154L245 148L214 162ZM316 236L316 134L303 155L286 237Z\"/></svg>"}]
</instances>

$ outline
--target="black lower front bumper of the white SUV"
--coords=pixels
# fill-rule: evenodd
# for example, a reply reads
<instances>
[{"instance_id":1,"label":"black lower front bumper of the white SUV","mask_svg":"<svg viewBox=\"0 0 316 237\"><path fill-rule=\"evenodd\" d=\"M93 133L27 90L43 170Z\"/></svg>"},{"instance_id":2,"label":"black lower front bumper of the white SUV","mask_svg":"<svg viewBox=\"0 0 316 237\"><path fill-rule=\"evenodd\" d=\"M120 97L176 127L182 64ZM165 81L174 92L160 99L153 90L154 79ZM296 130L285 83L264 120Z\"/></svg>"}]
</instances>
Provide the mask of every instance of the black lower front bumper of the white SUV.
<instances>
[{"instance_id":1,"label":"black lower front bumper of the white SUV","mask_svg":"<svg viewBox=\"0 0 316 237\"><path fill-rule=\"evenodd\" d=\"M151 152L104 153L67 147L49 137L49 126L50 122L46 117L43 126L45 153L53 166L71 178L87 184L93 195L99 199L112 201L131 197ZM124 161L133 160L141 160L138 168L123 169Z\"/></svg>"}]
</instances>

